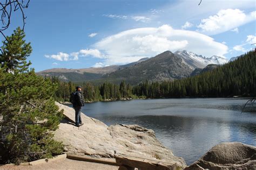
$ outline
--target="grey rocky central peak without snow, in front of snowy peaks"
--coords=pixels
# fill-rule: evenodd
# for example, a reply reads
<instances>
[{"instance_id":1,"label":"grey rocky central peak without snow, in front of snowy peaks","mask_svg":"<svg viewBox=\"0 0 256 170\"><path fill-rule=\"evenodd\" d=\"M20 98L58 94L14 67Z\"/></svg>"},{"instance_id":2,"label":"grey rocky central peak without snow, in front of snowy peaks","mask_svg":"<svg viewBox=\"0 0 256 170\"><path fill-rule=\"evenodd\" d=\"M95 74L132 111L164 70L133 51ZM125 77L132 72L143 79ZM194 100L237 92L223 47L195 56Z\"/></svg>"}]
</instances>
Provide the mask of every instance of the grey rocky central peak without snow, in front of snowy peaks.
<instances>
[{"instance_id":1,"label":"grey rocky central peak without snow, in front of snowy peaks","mask_svg":"<svg viewBox=\"0 0 256 170\"><path fill-rule=\"evenodd\" d=\"M125 80L129 83L142 81L174 80L187 77L193 71L181 58L170 51L161 53L126 69L117 70L103 77L110 80Z\"/></svg>"}]
</instances>

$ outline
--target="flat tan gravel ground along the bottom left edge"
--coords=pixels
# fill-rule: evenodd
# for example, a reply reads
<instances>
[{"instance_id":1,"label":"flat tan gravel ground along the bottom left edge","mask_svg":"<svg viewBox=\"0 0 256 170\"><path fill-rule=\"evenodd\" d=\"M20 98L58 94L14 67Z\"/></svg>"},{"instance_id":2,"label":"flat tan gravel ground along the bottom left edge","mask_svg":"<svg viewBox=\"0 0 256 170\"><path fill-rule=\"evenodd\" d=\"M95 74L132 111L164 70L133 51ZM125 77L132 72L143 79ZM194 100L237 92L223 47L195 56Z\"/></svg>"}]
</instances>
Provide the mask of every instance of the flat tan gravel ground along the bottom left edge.
<instances>
[{"instance_id":1,"label":"flat tan gravel ground along the bottom left edge","mask_svg":"<svg viewBox=\"0 0 256 170\"><path fill-rule=\"evenodd\" d=\"M103 170L116 170L118 166L98 164L93 162L78 161L72 159L59 159L51 161L48 163L38 164L38 165L29 165L29 166L14 166L14 165L4 165L0 166L0 169L103 169Z\"/></svg>"}]
</instances>

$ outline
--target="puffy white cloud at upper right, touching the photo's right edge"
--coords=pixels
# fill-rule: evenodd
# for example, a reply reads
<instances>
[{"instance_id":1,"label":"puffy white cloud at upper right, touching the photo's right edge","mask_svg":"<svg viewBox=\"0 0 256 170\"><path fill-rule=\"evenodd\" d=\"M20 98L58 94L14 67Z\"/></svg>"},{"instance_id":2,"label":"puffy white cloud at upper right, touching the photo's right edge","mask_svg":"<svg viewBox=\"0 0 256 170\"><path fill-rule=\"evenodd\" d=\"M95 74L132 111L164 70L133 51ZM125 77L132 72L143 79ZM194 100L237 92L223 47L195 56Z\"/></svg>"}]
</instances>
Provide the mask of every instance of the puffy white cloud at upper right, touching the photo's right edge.
<instances>
[{"instance_id":1,"label":"puffy white cloud at upper right, touching the photo's right edge","mask_svg":"<svg viewBox=\"0 0 256 170\"><path fill-rule=\"evenodd\" d=\"M200 32L206 34L218 34L235 29L255 19L255 11L246 15L239 9L226 9L220 10L217 15L202 19L198 28Z\"/></svg>"}]
</instances>

